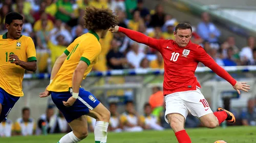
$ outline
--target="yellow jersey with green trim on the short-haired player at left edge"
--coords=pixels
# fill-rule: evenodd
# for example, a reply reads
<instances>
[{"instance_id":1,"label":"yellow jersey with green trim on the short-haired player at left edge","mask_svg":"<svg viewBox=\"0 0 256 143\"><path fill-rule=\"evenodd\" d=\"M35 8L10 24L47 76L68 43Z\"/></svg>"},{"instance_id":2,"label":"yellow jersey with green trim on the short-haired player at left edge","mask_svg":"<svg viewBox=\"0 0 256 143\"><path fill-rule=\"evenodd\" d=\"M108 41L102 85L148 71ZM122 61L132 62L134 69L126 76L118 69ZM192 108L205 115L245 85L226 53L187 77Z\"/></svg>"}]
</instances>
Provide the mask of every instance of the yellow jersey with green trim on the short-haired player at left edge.
<instances>
[{"instance_id":1,"label":"yellow jersey with green trim on the short-haired player at left edge","mask_svg":"<svg viewBox=\"0 0 256 143\"><path fill-rule=\"evenodd\" d=\"M27 36L19 39L8 39L7 33L0 35L0 88L7 93L21 97L23 96L22 81L25 69L9 61L9 55L15 54L19 60L24 62L36 61L36 51L33 40Z\"/></svg>"}]
</instances>

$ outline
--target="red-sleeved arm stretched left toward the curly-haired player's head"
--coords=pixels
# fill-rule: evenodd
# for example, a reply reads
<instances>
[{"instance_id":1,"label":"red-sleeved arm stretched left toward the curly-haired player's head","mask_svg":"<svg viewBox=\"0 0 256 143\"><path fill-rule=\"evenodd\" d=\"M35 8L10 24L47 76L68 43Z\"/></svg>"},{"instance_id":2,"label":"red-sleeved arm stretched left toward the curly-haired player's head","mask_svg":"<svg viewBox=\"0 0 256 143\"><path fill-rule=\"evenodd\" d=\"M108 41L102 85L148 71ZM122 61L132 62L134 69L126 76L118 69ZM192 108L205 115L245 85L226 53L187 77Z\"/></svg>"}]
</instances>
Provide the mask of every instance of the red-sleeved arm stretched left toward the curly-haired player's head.
<instances>
[{"instance_id":1,"label":"red-sleeved arm stretched left toward the curly-haired player's head","mask_svg":"<svg viewBox=\"0 0 256 143\"><path fill-rule=\"evenodd\" d=\"M110 28L109 31L112 33L121 32L125 34L127 37L129 37L130 39L132 39L133 41L148 45L152 48L159 49L159 41L161 40L148 37L140 32L129 30L127 28L123 28L120 26L115 26L114 28Z\"/></svg>"}]
</instances>

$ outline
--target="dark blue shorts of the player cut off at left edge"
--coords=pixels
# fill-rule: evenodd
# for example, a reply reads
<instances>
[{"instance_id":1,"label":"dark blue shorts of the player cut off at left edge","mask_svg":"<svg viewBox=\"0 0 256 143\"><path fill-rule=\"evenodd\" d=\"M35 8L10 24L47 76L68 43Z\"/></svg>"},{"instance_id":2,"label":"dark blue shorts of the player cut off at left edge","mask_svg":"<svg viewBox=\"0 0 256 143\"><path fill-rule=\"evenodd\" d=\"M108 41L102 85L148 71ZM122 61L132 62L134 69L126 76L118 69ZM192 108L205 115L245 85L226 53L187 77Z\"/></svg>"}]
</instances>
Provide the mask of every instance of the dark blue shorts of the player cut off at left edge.
<instances>
[{"instance_id":1,"label":"dark blue shorts of the player cut off at left edge","mask_svg":"<svg viewBox=\"0 0 256 143\"><path fill-rule=\"evenodd\" d=\"M0 88L0 103L2 104L2 112L0 115L0 122L5 120L8 113L11 111L14 104L18 101L19 97L12 96L5 90Z\"/></svg>"}]
</instances>

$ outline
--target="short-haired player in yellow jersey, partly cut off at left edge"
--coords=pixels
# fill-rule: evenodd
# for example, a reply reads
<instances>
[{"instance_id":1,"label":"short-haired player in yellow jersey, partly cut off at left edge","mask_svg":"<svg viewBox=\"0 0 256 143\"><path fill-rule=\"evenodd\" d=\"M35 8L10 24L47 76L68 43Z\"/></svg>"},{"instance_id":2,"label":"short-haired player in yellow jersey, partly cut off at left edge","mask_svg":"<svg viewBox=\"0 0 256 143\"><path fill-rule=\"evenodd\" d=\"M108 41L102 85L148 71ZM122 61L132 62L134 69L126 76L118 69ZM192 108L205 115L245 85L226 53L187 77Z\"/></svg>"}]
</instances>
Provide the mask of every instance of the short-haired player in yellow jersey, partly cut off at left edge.
<instances>
[{"instance_id":1,"label":"short-haired player in yellow jersey, partly cut off at left edge","mask_svg":"<svg viewBox=\"0 0 256 143\"><path fill-rule=\"evenodd\" d=\"M0 123L19 97L23 96L25 70L36 70L36 51L30 37L21 35L23 16L11 12L5 17L7 33L0 35Z\"/></svg>"}]
</instances>

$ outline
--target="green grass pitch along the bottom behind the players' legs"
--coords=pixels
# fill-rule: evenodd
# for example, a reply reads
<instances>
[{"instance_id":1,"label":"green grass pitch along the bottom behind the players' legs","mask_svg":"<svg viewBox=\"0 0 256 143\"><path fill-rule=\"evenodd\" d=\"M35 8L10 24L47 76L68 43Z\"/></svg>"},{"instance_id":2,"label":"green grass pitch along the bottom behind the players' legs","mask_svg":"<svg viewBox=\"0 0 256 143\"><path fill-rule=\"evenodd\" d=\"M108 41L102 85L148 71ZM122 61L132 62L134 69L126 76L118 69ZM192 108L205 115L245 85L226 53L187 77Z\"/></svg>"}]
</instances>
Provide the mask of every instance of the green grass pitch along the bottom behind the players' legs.
<instances>
[{"instance_id":1,"label":"green grass pitch along the bottom behind the players' legs","mask_svg":"<svg viewBox=\"0 0 256 143\"><path fill-rule=\"evenodd\" d=\"M227 143L253 143L256 142L256 127L227 127L225 129L186 129L192 142L214 143L216 140L225 140ZM40 136L14 136L0 138L1 143L57 143L63 134ZM81 141L94 143L94 135ZM108 133L109 143L176 143L178 142L172 130Z\"/></svg>"}]
</instances>

